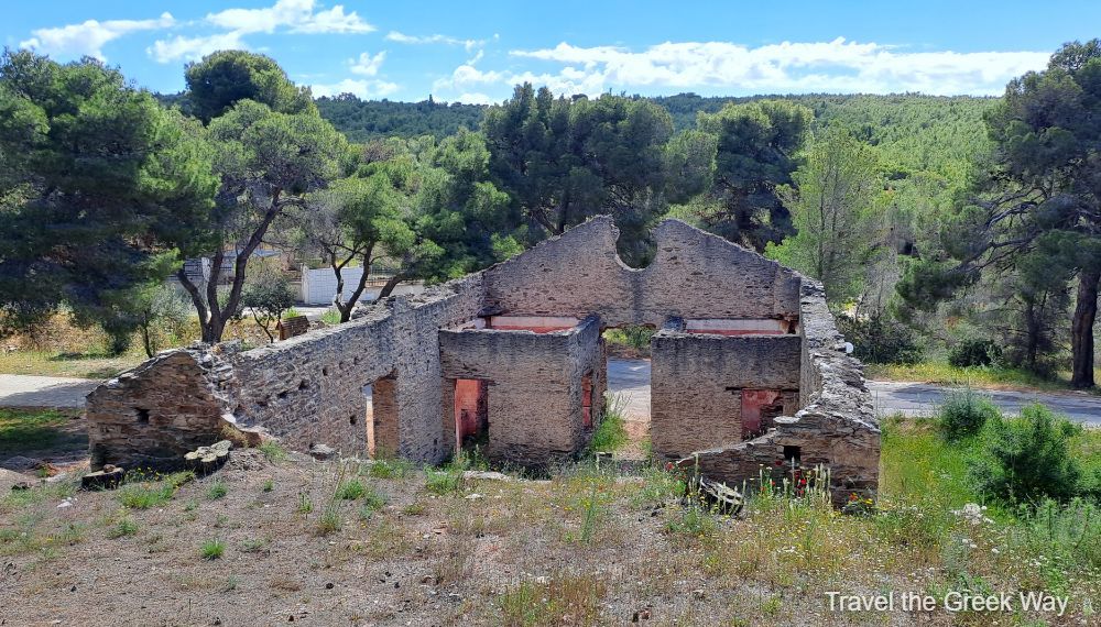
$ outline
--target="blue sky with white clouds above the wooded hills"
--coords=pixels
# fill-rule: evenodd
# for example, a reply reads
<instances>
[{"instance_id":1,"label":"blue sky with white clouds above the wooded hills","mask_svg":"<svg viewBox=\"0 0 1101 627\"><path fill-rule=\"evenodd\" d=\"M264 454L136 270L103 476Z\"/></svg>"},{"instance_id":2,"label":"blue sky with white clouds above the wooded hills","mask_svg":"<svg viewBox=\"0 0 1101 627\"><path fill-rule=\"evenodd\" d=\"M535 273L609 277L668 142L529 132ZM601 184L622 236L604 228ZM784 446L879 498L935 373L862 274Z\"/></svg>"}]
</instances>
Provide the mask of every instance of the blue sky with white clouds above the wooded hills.
<instances>
[{"instance_id":1,"label":"blue sky with white clouds above the wooded hills","mask_svg":"<svg viewBox=\"0 0 1101 627\"><path fill-rule=\"evenodd\" d=\"M274 57L315 95L491 102L522 80L556 92L1001 94L1101 2L12 2L7 47L91 55L157 91L215 50Z\"/></svg>"}]
</instances>

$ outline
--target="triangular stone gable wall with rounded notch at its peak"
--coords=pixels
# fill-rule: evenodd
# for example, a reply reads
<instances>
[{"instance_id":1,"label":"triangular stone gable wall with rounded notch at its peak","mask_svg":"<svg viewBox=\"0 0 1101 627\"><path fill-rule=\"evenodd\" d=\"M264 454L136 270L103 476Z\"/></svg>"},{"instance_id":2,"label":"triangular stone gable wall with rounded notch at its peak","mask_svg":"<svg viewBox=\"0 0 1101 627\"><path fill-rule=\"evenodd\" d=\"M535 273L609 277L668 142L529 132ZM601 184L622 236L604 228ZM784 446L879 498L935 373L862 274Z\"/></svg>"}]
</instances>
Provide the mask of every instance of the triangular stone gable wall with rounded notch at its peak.
<instances>
[{"instance_id":1,"label":"triangular stone gable wall with rounded notch at its peak","mask_svg":"<svg viewBox=\"0 0 1101 627\"><path fill-rule=\"evenodd\" d=\"M735 244L666 220L654 230L656 256L633 270L615 253L619 231L600 217L486 272L495 314L600 316L608 327L682 318L798 317L798 276ZM727 295L727 297L717 297Z\"/></svg>"}]
</instances>

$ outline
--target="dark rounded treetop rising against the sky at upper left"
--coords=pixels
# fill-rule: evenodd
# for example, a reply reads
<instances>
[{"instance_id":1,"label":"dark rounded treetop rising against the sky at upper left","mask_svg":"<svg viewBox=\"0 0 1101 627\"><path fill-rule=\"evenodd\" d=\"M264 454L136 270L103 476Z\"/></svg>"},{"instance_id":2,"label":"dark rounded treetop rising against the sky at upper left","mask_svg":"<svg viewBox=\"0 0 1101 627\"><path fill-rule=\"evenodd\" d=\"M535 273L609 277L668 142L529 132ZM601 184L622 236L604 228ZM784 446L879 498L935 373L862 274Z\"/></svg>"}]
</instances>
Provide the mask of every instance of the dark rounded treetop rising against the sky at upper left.
<instances>
[{"instance_id":1,"label":"dark rounded treetop rising against the sky at upper left","mask_svg":"<svg viewBox=\"0 0 1101 627\"><path fill-rule=\"evenodd\" d=\"M241 100L254 100L282 113L316 113L309 89L295 87L271 57L219 51L187 64L183 108L209 122Z\"/></svg>"}]
</instances>

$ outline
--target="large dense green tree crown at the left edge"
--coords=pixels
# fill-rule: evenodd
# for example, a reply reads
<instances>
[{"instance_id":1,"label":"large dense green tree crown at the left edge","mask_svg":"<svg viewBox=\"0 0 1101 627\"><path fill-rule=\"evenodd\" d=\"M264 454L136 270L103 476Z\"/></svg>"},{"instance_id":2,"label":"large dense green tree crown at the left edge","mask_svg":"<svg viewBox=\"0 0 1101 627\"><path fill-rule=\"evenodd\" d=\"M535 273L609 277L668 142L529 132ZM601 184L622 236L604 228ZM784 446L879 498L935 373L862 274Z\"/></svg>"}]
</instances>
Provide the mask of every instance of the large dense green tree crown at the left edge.
<instances>
[{"instance_id":1,"label":"large dense green tree crown at the left edge","mask_svg":"<svg viewBox=\"0 0 1101 627\"><path fill-rule=\"evenodd\" d=\"M197 123L92 59L0 61L0 332L65 306L124 350L132 292L173 270L218 185Z\"/></svg>"}]
</instances>

